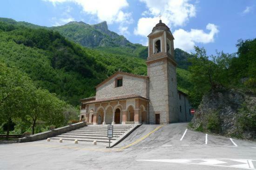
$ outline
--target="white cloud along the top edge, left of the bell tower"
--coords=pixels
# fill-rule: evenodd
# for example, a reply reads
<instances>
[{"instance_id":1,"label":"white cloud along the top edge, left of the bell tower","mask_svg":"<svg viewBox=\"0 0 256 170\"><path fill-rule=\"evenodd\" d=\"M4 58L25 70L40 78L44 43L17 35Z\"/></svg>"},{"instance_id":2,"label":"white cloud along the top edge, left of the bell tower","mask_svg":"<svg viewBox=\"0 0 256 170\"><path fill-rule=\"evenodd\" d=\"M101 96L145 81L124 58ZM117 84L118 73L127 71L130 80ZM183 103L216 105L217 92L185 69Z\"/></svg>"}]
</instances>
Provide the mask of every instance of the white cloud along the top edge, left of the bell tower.
<instances>
[{"instance_id":1,"label":"white cloud along the top edge, left of the bell tower","mask_svg":"<svg viewBox=\"0 0 256 170\"><path fill-rule=\"evenodd\" d=\"M122 9L128 7L126 0L44 0L50 1L56 6L58 3L74 2L83 8L88 14L96 15L98 21L107 21L109 24L113 22L122 22L127 17L131 17L129 13L124 13Z\"/></svg>"}]
</instances>

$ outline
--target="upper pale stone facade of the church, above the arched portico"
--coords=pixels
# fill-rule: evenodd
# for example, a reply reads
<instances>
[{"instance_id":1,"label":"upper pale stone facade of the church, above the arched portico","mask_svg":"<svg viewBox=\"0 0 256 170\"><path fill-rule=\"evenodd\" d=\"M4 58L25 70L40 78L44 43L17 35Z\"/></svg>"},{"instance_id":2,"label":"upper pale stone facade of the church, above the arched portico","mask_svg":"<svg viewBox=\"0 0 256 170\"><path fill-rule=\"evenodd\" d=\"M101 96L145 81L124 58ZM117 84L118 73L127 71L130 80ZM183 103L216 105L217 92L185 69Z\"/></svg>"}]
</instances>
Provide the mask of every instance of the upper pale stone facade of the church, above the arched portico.
<instances>
[{"instance_id":1,"label":"upper pale stone facade of the church, above the arched portico","mask_svg":"<svg viewBox=\"0 0 256 170\"><path fill-rule=\"evenodd\" d=\"M123 78L121 87L115 87L115 78L117 77ZM112 98L129 94L136 94L147 98L147 82L148 80L144 78L118 74L96 89L96 99Z\"/></svg>"}]
</instances>

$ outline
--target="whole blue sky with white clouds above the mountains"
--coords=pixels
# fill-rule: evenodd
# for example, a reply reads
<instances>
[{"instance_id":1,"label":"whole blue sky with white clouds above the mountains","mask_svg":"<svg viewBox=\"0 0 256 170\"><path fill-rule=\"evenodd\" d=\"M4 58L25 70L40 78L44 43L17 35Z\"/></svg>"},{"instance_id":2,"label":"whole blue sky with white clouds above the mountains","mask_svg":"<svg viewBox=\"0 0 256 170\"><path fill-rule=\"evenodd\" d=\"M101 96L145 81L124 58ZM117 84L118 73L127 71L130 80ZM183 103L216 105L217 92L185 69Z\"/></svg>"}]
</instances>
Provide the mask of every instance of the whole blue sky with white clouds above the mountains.
<instances>
[{"instance_id":1,"label":"whole blue sky with white clouds above the mountains","mask_svg":"<svg viewBox=\"0 0 256 170\"><path fill-rule=\"evenodd\" d=\"M256 0L1 0L0 17L40 26L70 21L96 24L132 43L147 45L147 35L159 15L175 37L175 47L187 52L204 46L236 52L238 39L256 38Z\"/></svg>"}]
</instances>

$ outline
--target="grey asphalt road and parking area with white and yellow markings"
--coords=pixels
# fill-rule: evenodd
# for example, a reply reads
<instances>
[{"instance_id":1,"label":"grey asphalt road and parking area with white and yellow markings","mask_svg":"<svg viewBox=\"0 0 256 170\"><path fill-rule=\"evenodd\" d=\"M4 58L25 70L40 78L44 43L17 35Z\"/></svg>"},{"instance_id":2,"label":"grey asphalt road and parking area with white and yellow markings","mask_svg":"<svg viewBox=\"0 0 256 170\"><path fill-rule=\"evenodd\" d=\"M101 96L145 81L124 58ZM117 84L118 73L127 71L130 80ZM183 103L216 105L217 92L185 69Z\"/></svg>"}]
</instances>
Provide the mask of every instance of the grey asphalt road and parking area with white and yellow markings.
<instances>
[{"instance_id":1,"label":"grey asphalt road and parking area with white and yellow markings","mask_svg":"<svg viewBox=\"0 0 256 170\"><path fill-rule=\"evenodd\" d=\"M206 135L186 127L184 123L141 125L111 149L71 141L0 144L0 169L256 170L255 141Z\"/></svg>"}]
</instances>

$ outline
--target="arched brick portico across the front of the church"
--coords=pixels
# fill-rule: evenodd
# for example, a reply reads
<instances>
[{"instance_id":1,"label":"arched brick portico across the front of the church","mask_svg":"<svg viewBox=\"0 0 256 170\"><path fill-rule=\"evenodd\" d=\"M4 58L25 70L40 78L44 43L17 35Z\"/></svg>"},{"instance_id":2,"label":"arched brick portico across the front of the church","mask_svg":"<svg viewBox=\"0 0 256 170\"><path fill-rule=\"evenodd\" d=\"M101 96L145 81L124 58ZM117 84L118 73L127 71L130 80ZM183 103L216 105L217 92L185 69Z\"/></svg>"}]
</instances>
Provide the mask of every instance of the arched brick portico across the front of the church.
<instances>
[{"instance_id":1,"label":"arched brick portico across the front of the church","mask_svg":"<svg viewBox=\"0 0 256 170\"><path fill-rule=\"evenodd\" d=\"M81 119L88 124L133 124L148 123L148 99L141 96L122 96L119 99L85 101Z\"/></svg>"}]
</instances>

